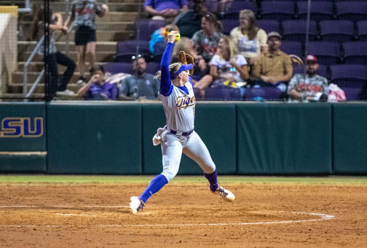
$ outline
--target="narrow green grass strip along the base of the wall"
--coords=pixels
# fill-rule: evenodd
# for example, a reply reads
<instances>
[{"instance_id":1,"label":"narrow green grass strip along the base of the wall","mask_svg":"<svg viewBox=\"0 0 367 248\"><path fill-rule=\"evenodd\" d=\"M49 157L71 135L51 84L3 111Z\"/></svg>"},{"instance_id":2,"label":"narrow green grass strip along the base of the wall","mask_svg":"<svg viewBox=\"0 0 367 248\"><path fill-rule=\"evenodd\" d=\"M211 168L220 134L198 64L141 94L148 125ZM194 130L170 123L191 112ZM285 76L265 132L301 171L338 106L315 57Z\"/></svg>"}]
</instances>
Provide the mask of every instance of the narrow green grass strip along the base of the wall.
<instances>
[{"instance_id":1,"label":"narrow green grass strip along the base of the wall","mask_svg":"<svg viewBox=\"0 0 367 248\"><path fill-rule=\"evenodd\" d=\"M148 184L154 176L78 176L43 174L3 174L0 183L125 183ZM367 177L262 177L262 176L219 176L221 183L256 184L327 184L367 185ZM172 183L207 183L203 176L177 176Z\"/></svg>"}]
</instances>

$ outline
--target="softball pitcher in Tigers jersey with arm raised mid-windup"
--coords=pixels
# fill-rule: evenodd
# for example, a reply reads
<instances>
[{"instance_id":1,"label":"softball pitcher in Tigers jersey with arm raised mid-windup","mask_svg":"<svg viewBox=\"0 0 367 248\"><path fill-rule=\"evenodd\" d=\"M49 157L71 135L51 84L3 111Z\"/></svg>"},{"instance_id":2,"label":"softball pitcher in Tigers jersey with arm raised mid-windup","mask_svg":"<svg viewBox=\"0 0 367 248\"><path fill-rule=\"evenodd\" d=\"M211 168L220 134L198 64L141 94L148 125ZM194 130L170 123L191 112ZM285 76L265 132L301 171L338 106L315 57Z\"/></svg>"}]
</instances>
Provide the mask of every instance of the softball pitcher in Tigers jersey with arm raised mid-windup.
<instances>
[{"instance_id":1,"label":"softball pitcher in Tigers jersey with arm raised mid-windup","mask_svg":"<svg viewBox=\"0 0 367 248\"><path fill-rule=\"evenodd\" d=\"M235 200L232 192L218 185L215 164L205 144L194 131L195 96L193 83L189 77L189 70L193 65L170 64L173 43L178 35L176 31L168 34L167 46L161 60L161 71L156 73L156 78L160 79L159 98L163 102L167 117L166 130L160 137L163 172L153 178L139 197L130 198L130 212L133 215L143 209L151 195L176 176L182 152L203 169L212 193L220 195L226 201Z\"/></svg>"}]
</instances>

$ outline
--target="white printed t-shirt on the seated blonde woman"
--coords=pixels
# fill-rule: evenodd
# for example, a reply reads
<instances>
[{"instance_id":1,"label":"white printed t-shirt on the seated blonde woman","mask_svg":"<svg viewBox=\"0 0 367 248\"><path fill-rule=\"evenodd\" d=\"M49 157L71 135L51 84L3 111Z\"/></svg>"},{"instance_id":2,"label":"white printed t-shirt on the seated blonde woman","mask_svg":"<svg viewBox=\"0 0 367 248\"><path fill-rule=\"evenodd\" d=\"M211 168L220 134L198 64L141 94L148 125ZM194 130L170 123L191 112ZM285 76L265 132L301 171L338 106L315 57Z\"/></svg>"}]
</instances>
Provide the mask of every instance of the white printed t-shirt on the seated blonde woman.
<instances>
[{"instance_id":1,"label":"white printed t-shirt on the seated blonde woman","mask_svg":"<svg viewBox=\"0 0 367 248\"><path fill-rule=\"evenodd\" d=\"M236 63L240 66L247 65L247 61L242 54L235 55ZM234 68L229 61L223 59L218 54L215 54L209 62L209 65L215 65L218 67L218 74L223 76L229 76L236 79L237 82L242 82L240 72Z\"/></svg>"}]
</instances>

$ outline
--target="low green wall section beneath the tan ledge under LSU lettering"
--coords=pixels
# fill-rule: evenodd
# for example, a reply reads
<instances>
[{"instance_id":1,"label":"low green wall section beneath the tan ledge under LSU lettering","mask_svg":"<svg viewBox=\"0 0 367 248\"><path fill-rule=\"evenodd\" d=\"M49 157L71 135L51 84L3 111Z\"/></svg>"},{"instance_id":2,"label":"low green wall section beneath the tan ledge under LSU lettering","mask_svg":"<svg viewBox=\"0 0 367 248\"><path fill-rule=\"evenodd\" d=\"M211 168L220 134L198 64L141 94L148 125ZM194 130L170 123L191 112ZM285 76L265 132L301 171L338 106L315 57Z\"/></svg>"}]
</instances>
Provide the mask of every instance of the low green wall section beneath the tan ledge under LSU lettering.
<instances>
[{"instance_id":1,"label":"low green wall section beneath the tan ledge under LSU lettering","mask_svg":"<svg viewBox=\"0 0 367 248\"><path fill-rule=\"evenodd\" d=\"M0 173L45 173L45 155L0 155Z\"/></svg>"}]
</instances>

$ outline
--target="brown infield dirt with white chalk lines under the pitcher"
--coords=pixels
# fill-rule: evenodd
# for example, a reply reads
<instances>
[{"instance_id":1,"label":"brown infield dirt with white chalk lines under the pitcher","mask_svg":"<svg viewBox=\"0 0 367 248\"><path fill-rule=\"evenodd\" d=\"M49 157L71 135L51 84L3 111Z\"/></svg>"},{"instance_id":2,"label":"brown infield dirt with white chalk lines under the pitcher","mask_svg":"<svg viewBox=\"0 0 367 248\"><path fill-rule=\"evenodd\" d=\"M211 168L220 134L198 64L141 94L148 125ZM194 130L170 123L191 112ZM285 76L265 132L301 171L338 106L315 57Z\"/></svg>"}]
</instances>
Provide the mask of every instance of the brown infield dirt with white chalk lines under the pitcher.
<instances>
[{"instance_id":1,"label":"brown infield dirt with white chalk lines under the pitcher","mask_svg":"<svg viewBox=\"0 0 367 248\"><path fill-rule=\"evenodd\" d=\"M170 183L133 216L126 207L129 198L139 195L146 185L0 184L0 246L367 247L365 185L232 183L222 186L236 200L225 202L211 194L207 184ZM165 226L321 218L291 212L335 218ZM103 227L108 225L118 226Z\"/></svg>"}]
</instances>

